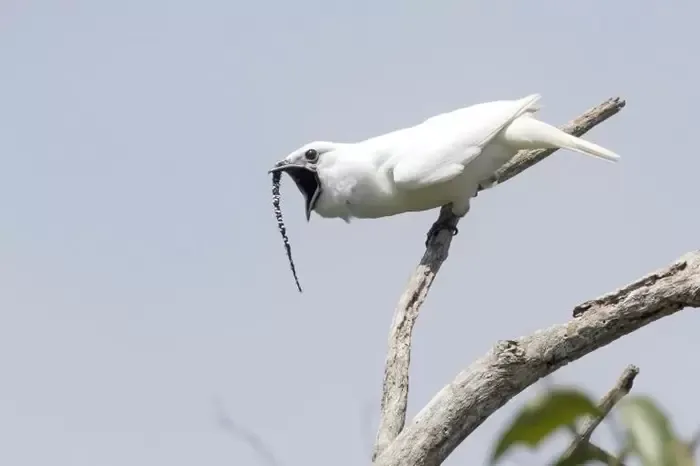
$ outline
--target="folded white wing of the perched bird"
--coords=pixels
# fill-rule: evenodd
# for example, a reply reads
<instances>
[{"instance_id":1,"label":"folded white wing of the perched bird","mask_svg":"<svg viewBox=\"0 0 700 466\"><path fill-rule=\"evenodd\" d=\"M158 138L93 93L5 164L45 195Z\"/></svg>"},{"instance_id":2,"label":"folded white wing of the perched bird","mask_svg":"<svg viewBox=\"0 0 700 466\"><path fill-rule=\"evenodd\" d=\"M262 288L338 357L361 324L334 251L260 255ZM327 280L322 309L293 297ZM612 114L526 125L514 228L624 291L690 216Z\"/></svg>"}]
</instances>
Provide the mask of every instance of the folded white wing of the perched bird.
<instances>
[{"instance_id":1,"label":"folded white wing of the perched bird","mask_svg":"<svg viewBox=\"0 0 700 466\"><path fill-rule=\"evenodd\" d=\"M482 153L503 128L536 111L539 94L473 105L427 119L406 131L392 150L394 183L413 190L449 181Z\"/></svg>"}]
</instances>

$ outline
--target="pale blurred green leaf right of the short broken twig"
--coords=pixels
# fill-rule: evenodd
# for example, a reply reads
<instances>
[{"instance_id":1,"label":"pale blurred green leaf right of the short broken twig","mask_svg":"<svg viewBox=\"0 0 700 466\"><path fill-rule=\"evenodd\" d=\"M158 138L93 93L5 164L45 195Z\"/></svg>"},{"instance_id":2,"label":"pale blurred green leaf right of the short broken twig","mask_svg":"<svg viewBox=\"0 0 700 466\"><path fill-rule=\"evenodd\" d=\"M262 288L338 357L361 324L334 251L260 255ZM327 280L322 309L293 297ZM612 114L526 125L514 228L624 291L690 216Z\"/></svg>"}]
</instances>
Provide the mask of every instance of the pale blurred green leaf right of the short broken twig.
<instances>
[{"instance_id":1,"label":"pale blurred green leaf right of the short broken twig","mask_svg":"<svg viewBox=\"0 0 700 466\"><path fill-rule=\"evenodd\" d=\"M630 448L644 466L684 464L671 423L650 397L628 396L619 409Z\"/></svg>"}]
</instances>

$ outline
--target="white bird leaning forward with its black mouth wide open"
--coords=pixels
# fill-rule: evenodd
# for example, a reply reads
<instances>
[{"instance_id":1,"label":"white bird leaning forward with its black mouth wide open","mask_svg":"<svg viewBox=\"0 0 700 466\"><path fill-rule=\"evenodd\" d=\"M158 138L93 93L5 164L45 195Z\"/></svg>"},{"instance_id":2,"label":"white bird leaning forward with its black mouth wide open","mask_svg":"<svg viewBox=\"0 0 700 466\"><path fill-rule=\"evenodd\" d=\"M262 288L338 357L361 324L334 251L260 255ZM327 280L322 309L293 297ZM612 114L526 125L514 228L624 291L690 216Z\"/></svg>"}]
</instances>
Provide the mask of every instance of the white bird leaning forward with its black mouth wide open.
<instances>
[{"instance_id":1,"label":"white bird leaning forward with its black mouth wide open","mask_svg":"<svg viewBox=\"0 0 700 466\"><path fill-rule=\"evenodd\" d=\"M616 162L597 144L534 118L539 94L443 113L355 143L315 141L270 170L286 172L311 212L325 218L380 218L450 205L457 217L521 149L568 149ZM447 228L436 222L428 234Z\"/></svg>"}]
</instances>

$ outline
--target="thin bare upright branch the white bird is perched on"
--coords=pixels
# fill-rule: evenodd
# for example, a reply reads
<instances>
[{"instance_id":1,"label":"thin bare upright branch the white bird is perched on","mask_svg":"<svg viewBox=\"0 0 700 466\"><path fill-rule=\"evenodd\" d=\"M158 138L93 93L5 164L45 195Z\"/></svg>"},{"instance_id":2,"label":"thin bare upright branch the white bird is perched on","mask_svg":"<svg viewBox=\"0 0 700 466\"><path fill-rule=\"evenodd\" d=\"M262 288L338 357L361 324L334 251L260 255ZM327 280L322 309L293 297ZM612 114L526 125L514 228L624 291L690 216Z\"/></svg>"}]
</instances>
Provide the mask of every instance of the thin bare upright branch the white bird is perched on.
<instances>
[{"instance_id":1,"label":"thin bare upright branch the white bird is perched on","mask_svg":"<svg viewBox=\"0 0 700 466\"><path fill-rule=\"evenodd\" d=\"M561 129L580 136L597 124L615 115L624 106L624 100L619 98L608 99L564 125ZM503 183L553 152L555 152L554 149L519 152L511 162L496 173L494 179L490 180L491 184L489 186ZM458 222L458 219L445 207L440 210L439 218L448 220L454 226ZM420 307L428 295L435 275L440 270L442 263L447 259L451 242L452 236L447 231L441 231L433 237L394 311L394 319L389 334L389 350L384 369L379 429L372 455L373 460L396 438L406 421L408 370L411 360L413 325L418 318Z\"/></svg>"}]
</instances>

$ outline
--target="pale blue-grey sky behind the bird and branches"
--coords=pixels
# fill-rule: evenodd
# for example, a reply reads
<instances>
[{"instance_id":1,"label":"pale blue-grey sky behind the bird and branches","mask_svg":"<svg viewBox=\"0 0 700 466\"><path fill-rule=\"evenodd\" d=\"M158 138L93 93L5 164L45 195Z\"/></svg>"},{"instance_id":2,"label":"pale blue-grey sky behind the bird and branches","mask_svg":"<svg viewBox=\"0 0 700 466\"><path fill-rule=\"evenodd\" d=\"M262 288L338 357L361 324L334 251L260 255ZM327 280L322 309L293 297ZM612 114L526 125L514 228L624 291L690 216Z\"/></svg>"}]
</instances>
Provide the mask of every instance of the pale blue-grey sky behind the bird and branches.
<instances>
[{"instance_id":1,"label":"pale blue-grey sky behind the bird and branches","mask_svg":"<svg viewBox=\"0 0 700 466\"><path fill-rule=\"evenodd\" d=\"M267 169L440 112L541 93L586 137L478 197L417 324L410 416L499 339L700 247L697 2L0 1L0 463L368 464L393 307L436 212L306 223ZM625 365L700 423L700 315L564 368L598 397ZM529 390L447 461L481 464ZM608 431L601 432L610 439ZM504 464L540 464L520 453Z\"/></svg>"}]
</instances>

